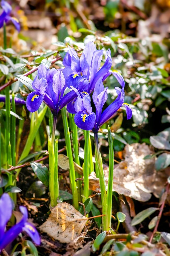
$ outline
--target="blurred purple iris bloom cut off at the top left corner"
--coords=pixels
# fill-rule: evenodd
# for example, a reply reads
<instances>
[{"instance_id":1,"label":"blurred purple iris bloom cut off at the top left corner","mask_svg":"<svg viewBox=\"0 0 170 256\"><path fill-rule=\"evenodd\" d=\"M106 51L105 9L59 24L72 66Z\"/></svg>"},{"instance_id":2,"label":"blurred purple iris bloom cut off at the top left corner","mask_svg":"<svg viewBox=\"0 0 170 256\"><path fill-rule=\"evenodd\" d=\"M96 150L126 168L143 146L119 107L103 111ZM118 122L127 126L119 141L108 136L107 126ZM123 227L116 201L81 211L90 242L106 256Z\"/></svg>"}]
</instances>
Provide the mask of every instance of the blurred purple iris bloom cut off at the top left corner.
<instances>
[{"instance_id":1,"label":"blurred purple iris bloom cut off at the top left corner","mask_svg":"<svg viewBox=\"0 0 170 256\"><path fill-rule=\"evenodd\" d=\"M12 11L12 7L7 3L6 1L2 0L1 1L1 6L3 9L3 12L0 15L0 28L3 27L3 23L7 23L9 21L12 21L14 26L18 31L20 31L20 23L15 17L10 17L10 13Z\"/></svg>"}]
</instances>

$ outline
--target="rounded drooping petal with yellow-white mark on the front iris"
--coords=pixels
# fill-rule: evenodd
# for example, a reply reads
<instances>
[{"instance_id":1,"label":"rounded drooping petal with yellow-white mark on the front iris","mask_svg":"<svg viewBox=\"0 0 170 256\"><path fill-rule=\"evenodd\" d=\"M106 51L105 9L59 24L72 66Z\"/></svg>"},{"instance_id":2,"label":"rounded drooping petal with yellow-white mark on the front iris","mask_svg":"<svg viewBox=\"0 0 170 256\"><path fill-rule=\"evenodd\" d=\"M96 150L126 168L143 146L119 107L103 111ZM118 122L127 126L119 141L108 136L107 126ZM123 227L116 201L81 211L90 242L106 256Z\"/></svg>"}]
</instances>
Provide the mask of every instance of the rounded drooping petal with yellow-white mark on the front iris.
<instances>
[{"instance_id":1,"label":"rounded drooping petal with yellow-white mark on the front iris","mask_svg":"<svg viewBox=\"0 0 170 256\"><path fill-rule=\"evenodd\" d=\"M83 111L77 112L74 116L75 124L86 131L92 130L95 125L96 115L95 113L84 114Z\"/></svg>"}]
</instances>

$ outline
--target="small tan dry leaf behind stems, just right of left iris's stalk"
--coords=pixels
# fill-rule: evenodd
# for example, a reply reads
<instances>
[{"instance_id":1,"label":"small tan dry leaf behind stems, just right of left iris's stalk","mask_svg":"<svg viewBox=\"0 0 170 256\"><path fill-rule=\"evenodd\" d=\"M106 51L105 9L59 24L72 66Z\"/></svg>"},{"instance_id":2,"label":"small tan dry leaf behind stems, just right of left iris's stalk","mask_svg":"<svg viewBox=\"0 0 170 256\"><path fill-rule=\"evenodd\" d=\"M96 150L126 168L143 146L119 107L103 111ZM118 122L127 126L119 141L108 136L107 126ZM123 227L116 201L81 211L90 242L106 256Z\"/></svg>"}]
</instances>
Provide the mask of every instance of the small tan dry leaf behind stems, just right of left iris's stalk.
<instances>
[{"instance_id":1,"label":"small tan dry leaf behind stems, just right of left iris's stalk","mask_svg":"<svg viewBox=\"0 0 170 256\"><path fill-rule=\"evenodd\" d=\"M63 170L69 170L70 169L69 160L68 160L68 157L66 155L63 155L63 154L58 155L58 166L60 168L62 168ZM77 172L81 175L83 174L82 167L79 166L75 162L74 162L74 170L75 170L75 172Z\"/></svg>"}]
</instances>

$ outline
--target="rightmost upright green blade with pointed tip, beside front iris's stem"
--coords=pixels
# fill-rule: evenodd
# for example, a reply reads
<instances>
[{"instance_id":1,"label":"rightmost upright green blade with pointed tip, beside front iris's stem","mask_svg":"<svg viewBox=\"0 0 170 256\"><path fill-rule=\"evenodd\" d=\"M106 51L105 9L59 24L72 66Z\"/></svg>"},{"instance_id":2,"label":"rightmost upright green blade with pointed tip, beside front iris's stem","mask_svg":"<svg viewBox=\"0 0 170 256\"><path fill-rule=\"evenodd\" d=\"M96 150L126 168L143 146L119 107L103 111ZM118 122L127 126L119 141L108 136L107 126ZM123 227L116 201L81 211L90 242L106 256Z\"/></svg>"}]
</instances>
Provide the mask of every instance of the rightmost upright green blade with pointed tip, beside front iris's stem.
<instances>
[{"instance_id":1,"label":"rightmost upright green blade with pointed tip, beside front iris's stem","mask_svg":"<svg viewBox=\"0 0 170 256\"><path fill-rule=\"evenodd\" d=\"M113 151L113 139L111 136L111 130L108 126L108 144L109 144L109 172L108 172L108 189L107 189L107 201L106 201L106 227L111 227L111 209L112 209L112 195L113 195L113 168L114 168L114 151Z\"/></svg>"}]
</instances>

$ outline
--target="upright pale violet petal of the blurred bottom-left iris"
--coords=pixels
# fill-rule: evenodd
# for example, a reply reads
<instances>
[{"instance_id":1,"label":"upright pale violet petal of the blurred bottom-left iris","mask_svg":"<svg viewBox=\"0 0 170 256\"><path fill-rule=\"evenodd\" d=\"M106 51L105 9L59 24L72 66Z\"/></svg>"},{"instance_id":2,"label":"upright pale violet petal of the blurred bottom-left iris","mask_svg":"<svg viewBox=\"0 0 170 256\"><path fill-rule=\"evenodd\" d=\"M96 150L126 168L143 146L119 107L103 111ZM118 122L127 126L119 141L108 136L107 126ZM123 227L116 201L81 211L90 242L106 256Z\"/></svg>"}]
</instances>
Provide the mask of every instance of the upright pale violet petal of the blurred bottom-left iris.
<instances>
[{"instance_id":1,"label":"upright pale violet petal of the blurred bottom-left iris","mask_svg":"<svg viewBox=\"0 0 170 256\"><path fill-rule=\"evenodd\" d=\"M1 239L5 232L7 222L12 215L13 202L7 193L4 193L0 198L0 245Z\"/></svg>"}]
</instances>

